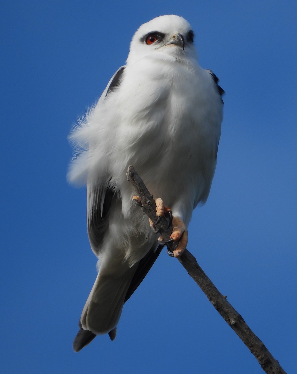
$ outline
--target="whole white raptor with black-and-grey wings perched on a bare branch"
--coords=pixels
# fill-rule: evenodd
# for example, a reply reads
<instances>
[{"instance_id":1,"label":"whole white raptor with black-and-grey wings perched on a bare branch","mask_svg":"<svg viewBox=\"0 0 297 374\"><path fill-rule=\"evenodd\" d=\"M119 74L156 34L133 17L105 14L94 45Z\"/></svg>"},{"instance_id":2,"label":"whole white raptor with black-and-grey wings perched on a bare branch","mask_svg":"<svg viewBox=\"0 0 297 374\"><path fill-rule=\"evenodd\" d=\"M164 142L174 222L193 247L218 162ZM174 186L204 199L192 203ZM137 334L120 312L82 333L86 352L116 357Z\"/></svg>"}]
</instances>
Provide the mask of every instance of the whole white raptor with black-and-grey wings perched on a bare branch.
<instances>
[{"instance_id":1,"label":"whole white raptor with black-and-grey wings perched on a bare branch","mask_svg":"<svg viewBox=\"0 0 297 374\"><path fill-rule=\"evenodd\" d=\"M217 76L198 63L189 22L158 16L138 28L126 65L70 132L68 181L86 185L88 237L98 260L74 351L97 335L114 340L124 303L166 244L135 204L128 165L156 199L158 217L172 215L179 257L192 212L206 202L214 177L223 93Z\"/></svg>"}]
</instances>

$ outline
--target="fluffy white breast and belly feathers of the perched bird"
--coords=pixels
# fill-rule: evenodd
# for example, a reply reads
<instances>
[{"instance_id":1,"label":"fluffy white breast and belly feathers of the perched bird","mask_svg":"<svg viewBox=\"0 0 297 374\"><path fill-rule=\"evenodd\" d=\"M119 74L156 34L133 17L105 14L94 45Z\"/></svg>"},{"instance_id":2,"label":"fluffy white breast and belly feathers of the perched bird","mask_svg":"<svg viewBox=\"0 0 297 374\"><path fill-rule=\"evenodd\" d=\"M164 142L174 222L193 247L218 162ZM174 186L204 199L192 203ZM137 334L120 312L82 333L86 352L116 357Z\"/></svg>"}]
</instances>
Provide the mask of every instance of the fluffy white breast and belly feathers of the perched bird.
<instances>
[{"instance_id":1,"label":"fluffy white breast and belly feathers of the perched bird","mask_svg":"<svg viewBox=\"0 0 297 374\"><path fill-rule=\"evenodd\" d=\"M80 163L91 184L109 181L131 210L133 165L153 196L189 223L208 196L220 138L221 99L196 60L181 64L143 59L125 68L115 91L80 129L88 152Z\"/></svg>"}]
</instances>

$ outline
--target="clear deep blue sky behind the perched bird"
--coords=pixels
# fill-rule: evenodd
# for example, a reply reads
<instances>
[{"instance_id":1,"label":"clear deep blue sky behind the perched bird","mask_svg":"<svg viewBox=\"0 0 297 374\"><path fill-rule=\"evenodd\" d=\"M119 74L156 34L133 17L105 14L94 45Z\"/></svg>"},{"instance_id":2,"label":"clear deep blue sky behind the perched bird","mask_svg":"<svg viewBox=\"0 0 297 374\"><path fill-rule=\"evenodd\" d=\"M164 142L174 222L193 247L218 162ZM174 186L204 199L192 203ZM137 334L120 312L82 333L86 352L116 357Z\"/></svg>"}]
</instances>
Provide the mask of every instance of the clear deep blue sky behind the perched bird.
<instances>
[{"instance_id":1,"label":"clear deep blue sky behind the perched bird","mask_svg":"<svg viewBox=\"0 0 297 374\"><path fill-rule=\"evenodd\" d=\"M164 251L125 304L116 340L72 350L96 276L85 189L68 186L67 135L131 37L186 18L226 91L218 165L188 249L288 373L296 370L296 1L3 1L3 373L263 373Z\"/></svg>"}]
</instances>

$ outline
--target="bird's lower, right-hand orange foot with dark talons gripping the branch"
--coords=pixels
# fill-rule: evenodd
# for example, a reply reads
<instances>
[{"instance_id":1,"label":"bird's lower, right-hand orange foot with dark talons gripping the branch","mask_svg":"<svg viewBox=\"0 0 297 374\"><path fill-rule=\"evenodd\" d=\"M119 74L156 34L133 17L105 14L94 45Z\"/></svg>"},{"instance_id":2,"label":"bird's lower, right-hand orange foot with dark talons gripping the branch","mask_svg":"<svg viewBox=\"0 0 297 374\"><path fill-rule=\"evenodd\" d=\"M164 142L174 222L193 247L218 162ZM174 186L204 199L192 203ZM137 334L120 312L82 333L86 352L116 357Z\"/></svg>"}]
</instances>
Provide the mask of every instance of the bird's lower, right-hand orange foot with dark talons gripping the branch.
<instances>
[{"instance_id":1,"label":"bird's lower, right-hand orange foot with dark talons gripping the branch","mask_svg":"<svg viewBox=\"0 0 297 374\"><path fill-rule=\"evenodd\" d=\"M174 249L172 252L168 251L168 254L172 257L180 257L184 253L184 250L188 244L188 230L186 225L179 217L172 218L172 226L173 230L172 234L170 235L170 239L164 242L162 236L159 236L158 242L160 244L179 242L177 249Z\"/></svg>"}]
</instances>

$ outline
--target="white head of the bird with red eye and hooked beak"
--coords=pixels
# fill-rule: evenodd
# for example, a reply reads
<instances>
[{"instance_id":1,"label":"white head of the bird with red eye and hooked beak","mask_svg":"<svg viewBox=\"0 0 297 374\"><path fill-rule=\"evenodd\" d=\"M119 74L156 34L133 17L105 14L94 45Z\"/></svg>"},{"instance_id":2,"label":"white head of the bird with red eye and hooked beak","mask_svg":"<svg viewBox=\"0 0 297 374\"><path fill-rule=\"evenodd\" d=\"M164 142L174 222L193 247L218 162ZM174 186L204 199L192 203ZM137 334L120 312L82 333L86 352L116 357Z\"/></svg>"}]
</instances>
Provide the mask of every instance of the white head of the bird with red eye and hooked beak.
<instances>
[{"instance_id":1,"label":"white head of the bird with red eye and hooked beak","mask_svg":"<svg viewBox=\"0 0 297 374\"><path fill-rule=\"evenodd\" d=\"M194 33L189 22L175 15L159 16L138 28L130 44L127 65L144 56L182 60L197 59Z\"/></svg>"}]
</instances>

